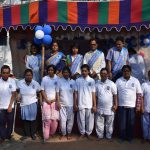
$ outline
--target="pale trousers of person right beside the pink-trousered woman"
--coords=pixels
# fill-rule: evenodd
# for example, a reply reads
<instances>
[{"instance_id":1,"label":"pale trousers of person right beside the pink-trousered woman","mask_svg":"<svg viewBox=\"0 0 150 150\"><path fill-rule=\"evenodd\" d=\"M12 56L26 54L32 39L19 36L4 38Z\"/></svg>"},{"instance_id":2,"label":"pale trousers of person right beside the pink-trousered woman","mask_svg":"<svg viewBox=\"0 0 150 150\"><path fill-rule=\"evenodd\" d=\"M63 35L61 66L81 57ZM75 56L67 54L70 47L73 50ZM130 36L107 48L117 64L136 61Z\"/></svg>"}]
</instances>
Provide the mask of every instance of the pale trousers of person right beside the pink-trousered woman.
<instances>
[{"instance_id":1,"label":"pale trousers of person right beside the pink-trousered woman","mask_svg":"<svg viewBox=\"0 0 150 150\"><path fill-rule=\"evenodd\" d=\"M73 107L61 107L60 129L62 135L71 134L73 123L74 123Z\"/></svg>"}]
</instances>

